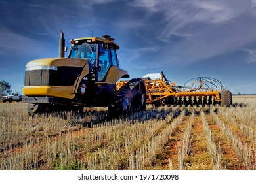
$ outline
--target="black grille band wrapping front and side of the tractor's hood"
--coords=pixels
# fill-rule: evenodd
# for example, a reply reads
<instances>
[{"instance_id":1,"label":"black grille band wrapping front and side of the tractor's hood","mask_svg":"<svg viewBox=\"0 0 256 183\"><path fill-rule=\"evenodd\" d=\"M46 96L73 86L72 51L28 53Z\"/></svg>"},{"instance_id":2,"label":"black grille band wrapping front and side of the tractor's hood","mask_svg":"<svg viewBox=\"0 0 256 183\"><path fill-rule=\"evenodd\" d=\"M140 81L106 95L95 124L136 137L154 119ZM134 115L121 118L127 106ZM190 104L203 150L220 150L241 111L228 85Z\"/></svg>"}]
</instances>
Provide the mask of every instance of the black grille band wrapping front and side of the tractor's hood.
<instances>
[{"instance_id":1,"label":"black grille band wrapping front and side of the tractor's hood","mask_svg":"<svg viewBox=\"0 0 256 183\"><path fill-rule=\"evenodd\" d=\"M83 67L58 67L57 70L35 69L25 73L25 86L72 86Z\"/></svg>"}]
</instances>

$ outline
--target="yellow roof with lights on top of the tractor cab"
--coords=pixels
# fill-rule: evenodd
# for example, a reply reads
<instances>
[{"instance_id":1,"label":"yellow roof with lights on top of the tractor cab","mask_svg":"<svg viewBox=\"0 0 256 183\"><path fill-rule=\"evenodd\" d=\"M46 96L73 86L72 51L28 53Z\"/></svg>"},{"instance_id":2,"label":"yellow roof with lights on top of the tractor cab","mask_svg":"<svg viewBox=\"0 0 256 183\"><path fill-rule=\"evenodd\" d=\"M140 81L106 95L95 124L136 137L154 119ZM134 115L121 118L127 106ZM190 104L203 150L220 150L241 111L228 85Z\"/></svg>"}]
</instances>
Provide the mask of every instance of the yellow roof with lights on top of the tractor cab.
<instances>
[{"instance_id":1,"label":"yellow roof with lights on top of the tractor cab","mask_svg":"<svg viewBox=\"0 0 256 183\"><path fill-rule=\"evenodd\" d=\"M81 37L81 38L75 38L72 39L70 42L71 44L74 44L74 42L72 43L72 41L86 41L86 42L106 42L108 44L111 44L112 46L114 46L114 48L119 49L120 46L114 42L114 38L110 37L109 35L103 35L102 38L101 37Z\"/></svg>"}]
</instances>

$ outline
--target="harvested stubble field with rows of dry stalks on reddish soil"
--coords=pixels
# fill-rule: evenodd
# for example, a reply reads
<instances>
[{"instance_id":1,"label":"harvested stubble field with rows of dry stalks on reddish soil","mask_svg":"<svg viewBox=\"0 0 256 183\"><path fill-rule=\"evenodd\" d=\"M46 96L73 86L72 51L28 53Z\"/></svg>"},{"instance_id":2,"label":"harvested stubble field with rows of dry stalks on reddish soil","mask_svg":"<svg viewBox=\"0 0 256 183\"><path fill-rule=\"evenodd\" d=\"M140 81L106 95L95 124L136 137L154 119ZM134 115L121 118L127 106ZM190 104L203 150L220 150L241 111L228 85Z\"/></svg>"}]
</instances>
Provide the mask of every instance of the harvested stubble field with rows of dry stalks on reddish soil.
<instances>
[{"instance_id":1,"label":"harvested stubble field with rows of dry stalks on reddish soil","mask_svg":"<svg viewBox=\"0 0 256 183\"><path fill-rule=\"evenodd\" d=\"M0 103L0 169L255 169L256 97L233 103L148 106L96 124L106 108L31 117L24 103Z\"/></svg>"}]
</instances>

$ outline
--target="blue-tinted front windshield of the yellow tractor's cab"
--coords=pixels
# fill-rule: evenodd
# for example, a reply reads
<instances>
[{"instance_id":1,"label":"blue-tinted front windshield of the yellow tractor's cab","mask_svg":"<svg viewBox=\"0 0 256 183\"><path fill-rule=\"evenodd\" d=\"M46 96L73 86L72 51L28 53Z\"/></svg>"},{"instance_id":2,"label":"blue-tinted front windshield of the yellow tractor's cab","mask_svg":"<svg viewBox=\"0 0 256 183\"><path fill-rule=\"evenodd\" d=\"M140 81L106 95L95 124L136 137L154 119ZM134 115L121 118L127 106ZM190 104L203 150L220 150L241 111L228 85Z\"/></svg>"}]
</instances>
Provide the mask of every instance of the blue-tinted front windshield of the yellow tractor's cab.
<instances>
[{"instance_id":1,"label":"blue-tinted front windshield of the yellow tractor's cab","mask_svg":"<svg viewBox=\"0 0 256 183\"><path fill-rule=\"evenodd\" d=\"M88 44L83 42L82 44L74 44L70 50L70 58L87 58L90 61L95 60L96 56L96 44Z\"/></svg>"}]
</instances>

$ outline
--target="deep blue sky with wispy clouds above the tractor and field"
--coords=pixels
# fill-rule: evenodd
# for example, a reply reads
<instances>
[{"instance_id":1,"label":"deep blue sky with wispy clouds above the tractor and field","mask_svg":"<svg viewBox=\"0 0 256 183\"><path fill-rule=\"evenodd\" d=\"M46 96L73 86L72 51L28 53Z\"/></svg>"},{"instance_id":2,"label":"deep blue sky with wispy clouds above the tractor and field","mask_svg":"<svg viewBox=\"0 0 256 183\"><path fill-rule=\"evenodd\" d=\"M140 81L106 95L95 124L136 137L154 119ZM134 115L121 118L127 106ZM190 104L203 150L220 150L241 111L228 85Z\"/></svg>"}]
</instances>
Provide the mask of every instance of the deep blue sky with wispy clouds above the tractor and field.
<instances>
[{"instance_id":1,"label":"deep blue sky with wispy clouds above the tractor and field","mask_svg":"<svg viewBox=\"0 0 256 183\"><path fill-rule=\"evenodd\" d=\"M232 93L256 93L256 0L2 0L0 80L22 93L26 63L58 57L70 39L111 35L131 78L209 76ZM66 56L68 54L66 53Z\"/></svg>"}]
</instances>

